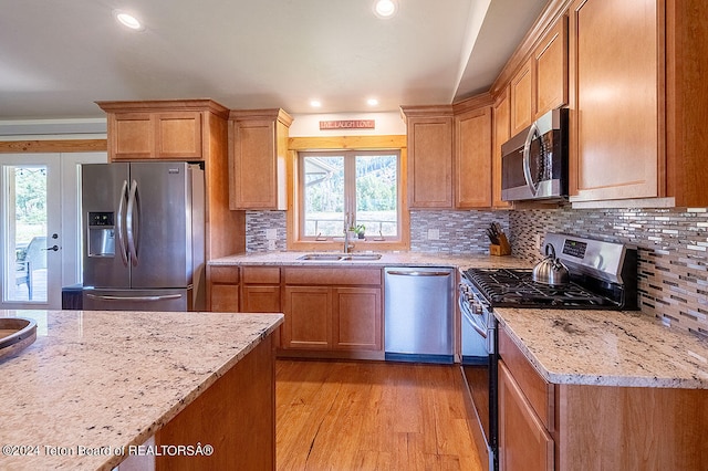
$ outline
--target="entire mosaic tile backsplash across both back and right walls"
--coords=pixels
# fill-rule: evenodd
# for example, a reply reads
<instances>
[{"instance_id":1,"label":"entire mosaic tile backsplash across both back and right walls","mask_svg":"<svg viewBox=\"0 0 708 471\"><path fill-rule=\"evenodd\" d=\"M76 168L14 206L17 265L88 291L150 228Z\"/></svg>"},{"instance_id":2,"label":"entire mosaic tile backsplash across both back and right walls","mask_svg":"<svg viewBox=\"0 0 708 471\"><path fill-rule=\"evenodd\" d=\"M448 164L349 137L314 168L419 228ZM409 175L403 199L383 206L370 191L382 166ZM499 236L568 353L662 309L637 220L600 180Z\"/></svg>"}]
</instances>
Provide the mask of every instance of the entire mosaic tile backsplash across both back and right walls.
<instances>
[{"instance_id":1,"label":"entire mosaic tile backsplash across both back and right walls","mask_svg":"<svg viewBox=\"0 0 708 471\"><path fill-rule=\"evenodd\" d=\"M708 339L708 208L410 211L410 250L488 253L492 221L511 234L512 254L530 262L541 260L537 237L546 232L636 247L642 311ZM287 249L284 211L248 211L246 223L248 252L269 250L267 229L275 229L271 247Z\"/></svg>"}]
</instances>

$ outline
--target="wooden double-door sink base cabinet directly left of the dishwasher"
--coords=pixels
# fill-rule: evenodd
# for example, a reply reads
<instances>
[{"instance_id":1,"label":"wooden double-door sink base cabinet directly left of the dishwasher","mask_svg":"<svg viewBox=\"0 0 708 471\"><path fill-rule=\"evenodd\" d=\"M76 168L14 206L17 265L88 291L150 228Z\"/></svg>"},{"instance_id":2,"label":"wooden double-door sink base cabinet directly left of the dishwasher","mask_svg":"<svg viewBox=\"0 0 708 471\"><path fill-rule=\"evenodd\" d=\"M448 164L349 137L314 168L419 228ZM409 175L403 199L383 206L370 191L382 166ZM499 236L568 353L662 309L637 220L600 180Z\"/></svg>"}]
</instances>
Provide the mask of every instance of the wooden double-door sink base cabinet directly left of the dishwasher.
<instances>
[{"instance_id":1,"label":"wooden double-door sink base cabinet directly left of the dishwasher","mask_svg":"<svg viewBox=\"0 0 708 471\"><path fill-rule=\"evenodd\" d=\"M383 359L381 269L287 266L283 279L281 352Z\"/></svg>"}]
</instances>

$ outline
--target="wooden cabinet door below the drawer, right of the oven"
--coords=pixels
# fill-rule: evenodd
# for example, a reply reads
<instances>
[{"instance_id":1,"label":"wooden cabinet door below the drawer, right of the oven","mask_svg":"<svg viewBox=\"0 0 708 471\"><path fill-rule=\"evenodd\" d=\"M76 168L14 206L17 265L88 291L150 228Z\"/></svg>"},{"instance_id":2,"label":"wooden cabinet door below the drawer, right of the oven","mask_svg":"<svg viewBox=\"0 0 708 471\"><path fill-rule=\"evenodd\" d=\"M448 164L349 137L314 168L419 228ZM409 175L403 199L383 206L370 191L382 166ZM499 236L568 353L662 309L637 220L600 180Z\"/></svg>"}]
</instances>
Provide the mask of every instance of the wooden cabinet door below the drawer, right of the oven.
<instances>
[{"instance_id":1,"label":"wooden cabinet door below the drawer, right of the oven","mask_svg":"<svg viewBox=\"0 0 708 471\"><path fill-rule=\"evenodd\" d=\"M499 467L501 471L554 468L553 439L503 362L499 362Z\"/></svg>"}]
</instances>

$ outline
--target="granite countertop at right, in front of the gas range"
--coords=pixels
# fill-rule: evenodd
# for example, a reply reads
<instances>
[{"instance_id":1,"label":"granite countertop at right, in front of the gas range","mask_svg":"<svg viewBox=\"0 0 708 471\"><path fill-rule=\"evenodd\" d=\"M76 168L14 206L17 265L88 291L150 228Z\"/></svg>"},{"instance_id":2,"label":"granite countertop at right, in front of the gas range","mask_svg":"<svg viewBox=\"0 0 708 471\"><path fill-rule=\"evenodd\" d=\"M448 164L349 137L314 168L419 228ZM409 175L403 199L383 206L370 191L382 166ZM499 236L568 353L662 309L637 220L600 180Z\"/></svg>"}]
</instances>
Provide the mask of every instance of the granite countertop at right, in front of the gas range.
<instances>
[{"instance_id":1,"label":"granite countertop at right, in front of the gas range","mask_svg":"<svg viewBox=\"0 0 708 471\"><path fill-rule=\"evenodd\" d=\"M501 307L494 316L550 383L708 389L708 342L638 311Z\"/></svg>"}]
</instances>

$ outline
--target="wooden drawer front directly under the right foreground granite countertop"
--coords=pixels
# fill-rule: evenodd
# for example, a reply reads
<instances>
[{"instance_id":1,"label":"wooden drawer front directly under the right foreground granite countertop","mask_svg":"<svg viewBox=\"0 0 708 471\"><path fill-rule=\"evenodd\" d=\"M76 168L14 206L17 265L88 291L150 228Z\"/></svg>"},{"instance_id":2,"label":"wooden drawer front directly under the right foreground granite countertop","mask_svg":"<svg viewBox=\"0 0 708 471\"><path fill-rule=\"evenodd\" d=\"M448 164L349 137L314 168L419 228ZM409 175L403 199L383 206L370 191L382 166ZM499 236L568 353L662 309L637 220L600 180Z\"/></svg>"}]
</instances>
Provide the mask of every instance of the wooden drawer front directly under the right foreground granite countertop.
<instances>
[{"instance_id":1,"label":"wooden drawer front directly under the right foreground granite countertop","mask_svg":"<svg viewBox=\"0 0 708 471\"><path fill-rule=\"evenodd\" d=\"M543 422L543 426L549 431L553 431L555 389L551 383L548 383L539 375L533 365L523 355L523 352L519 349L501 326L499 328L499 355Z\"/></svg>"}]
</instances>

